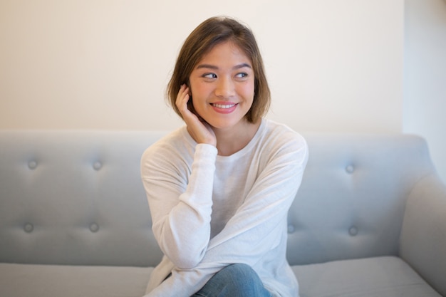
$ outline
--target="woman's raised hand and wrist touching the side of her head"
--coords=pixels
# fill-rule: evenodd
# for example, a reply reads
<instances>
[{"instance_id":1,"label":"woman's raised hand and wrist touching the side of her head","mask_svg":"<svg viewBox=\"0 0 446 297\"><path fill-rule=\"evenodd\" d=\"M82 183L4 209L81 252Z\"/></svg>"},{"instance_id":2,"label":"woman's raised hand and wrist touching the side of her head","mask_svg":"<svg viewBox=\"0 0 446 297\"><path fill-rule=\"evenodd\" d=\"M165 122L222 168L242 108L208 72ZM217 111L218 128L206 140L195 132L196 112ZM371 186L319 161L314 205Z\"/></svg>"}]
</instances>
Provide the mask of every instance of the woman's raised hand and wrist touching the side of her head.
<instances>
[{"instance_id":1,"label":"woman's raised hand and wrist touching the side of her head","mask_svg":"<svg viewBox=\"0 0 446 297\"><path fill-rule=\"evenodd\" d=\"M215 137L212 127L202 118L192 113L187 108L187 102L190 99L189 87L181 85L177 95L176 105L187 125L187 132L197 143L206 143L208 145L217 146L217 138Z\"/></svg>"}]
</instances>

